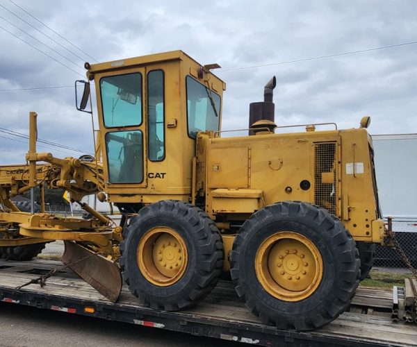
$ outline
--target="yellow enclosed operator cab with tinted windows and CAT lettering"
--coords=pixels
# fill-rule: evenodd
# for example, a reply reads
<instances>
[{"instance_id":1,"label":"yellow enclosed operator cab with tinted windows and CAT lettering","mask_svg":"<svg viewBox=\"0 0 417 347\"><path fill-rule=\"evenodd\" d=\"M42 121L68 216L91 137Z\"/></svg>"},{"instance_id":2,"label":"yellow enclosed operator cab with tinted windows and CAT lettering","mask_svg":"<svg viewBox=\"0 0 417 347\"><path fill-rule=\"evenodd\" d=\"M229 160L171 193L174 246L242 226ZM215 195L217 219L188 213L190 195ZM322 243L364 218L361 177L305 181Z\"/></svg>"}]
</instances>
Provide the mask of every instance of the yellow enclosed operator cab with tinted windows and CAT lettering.
<instances>
[{"instance_id":1,"label":"yellow enclosed operator cab with tinted windows and CAT lettering","mask_svg":"<svg viewBox=\"0 0 417 347\"><path fill-rule=\"evenodd\" d=\"M225 83L182 51L87 67L108 201L188 201L195 139L220 130Z\"/></svg>"}]
</instances>

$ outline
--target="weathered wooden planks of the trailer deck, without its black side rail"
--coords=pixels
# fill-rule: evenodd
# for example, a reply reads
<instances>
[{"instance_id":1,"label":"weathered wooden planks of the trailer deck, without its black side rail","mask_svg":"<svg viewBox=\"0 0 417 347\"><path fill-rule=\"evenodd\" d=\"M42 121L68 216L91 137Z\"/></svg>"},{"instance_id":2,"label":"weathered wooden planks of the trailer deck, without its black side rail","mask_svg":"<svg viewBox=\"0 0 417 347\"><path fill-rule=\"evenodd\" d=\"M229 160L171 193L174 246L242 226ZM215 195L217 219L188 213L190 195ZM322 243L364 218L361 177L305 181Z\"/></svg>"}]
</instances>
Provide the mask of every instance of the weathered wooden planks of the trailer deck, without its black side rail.
<instances>
[{"instance_id":1,"label":"weathered wooden planks of the trailer deck, without its black side rail","mask_svg":"<svg viewBox=\"0 0 417 347\"><path fill-rule=\"evenodd\" d=\"M4 262L0 262L0 285L9 289L14 289L26 283L28 280L38 277L34 273L13 272L14 266L15 269L23 271L34 268L38 270L49 270L53 269L54 266L62 266L60 262L47 260L40 260L35 262L35 264L32 264L32 262L8 262L6 264L8 266L10 265L10 267L1 269ZM57 276L50 278L47 281L47 285L42 288L39 285L28 285L22 290L36 293L42 292L51 296L72 297L87 301L108 303L106 298L75 276L71 271L59 273ZM386 290L381 291L359 287L356 296L354 296L353 304L366 306L369 303L372 303L375 307L390 307L389 305L392 305L392 293ZM114 305L117 307L129 307L135 310L143 309L149 310L149 312L152 311L147 307L139 305L138 300L130 294L129 289L126 287L122 288L120 299ZM360 308L358 308L358 312L361 312ZM243 324L250 323L258 327L271 328L261 323L256 316L247 311L245 305L236 296L233 284L226 281L220 281L211 294L202 303L199 303L197 307L173 314L177 314L184 319L187 319L187 317L188 319L198 317L206 321L211 321L213 325L234 322ZM411 346L417 343L416 325L407 325L402 322L393 323L389 314L385 312L383 315L382 312L376 311L373 314L344 312L332 323L308 334L318 337L338 337L352 341L358 339L371 342L380 341L381 343L391 344L393 346Z\"/></svg>"}]
</instances>

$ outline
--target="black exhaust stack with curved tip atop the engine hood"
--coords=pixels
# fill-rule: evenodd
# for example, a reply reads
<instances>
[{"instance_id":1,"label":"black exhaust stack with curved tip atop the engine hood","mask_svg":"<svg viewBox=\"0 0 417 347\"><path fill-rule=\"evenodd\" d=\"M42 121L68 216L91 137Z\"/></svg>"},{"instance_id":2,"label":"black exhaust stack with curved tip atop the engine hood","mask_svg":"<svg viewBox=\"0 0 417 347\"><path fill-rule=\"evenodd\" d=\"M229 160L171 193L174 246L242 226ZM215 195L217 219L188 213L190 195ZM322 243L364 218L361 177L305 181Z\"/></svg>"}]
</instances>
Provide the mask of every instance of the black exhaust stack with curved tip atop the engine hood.
<instances>
[{"instance_id":1,"label":"black exhaust stack with curved tip atop the engine hood","mask_svg":"<svg viewBox=\"0 0 417 347\"><path fill-rule=\"evenodd\" d=\"M263 91L263 101L250 103L249 128L268 128L271 132L277 127L275 124L275 103L272 102L277 78L272 77L266 83ZM256 130L249 130L249 135L254 135Z\"/></svg>"}]
</instances>

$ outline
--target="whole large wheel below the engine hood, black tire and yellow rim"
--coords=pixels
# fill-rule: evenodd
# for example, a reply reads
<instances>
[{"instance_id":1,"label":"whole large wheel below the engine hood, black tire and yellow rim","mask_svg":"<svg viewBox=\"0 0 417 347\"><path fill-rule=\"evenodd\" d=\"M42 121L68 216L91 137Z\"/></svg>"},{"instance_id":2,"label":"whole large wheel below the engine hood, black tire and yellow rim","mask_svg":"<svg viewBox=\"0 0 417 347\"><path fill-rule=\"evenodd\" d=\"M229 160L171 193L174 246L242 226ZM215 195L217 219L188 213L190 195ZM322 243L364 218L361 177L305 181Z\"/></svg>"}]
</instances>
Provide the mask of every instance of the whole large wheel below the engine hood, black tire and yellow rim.
<instances>
[{"instance_id":1,"label":"whole large wheel below the engine hood, black tire and yellow rim","mask_svg":"<svg viewBox=\"0 0 417 347\"><path fill-rule=\"evenodd\" d=\"M255 212L231 253L231 278L247 308L265 323L291 330L336 319L359 284L359 266L341 221L296 201Z\"/></svg>"}]
</instances>

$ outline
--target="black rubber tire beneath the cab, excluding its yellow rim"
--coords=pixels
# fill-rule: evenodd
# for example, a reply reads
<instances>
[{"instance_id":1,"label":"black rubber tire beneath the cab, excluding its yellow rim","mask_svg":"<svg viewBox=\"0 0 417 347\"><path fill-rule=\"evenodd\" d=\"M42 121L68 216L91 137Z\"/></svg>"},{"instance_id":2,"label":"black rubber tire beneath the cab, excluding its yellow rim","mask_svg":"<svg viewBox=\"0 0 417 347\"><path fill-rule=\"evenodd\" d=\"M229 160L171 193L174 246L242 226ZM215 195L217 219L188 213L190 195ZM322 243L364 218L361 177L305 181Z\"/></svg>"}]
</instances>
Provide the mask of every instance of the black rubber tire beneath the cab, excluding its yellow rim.
<instances>
[{"instance_id":1,"label":"black rubber tire beneath the cab, excluding its yellow rim","mask_svg":"<svg viewBox=\"0 0 417 347\"><path fill-rule=\"evenodd\" d=\"M140 238L156 226L176 230L188 251L185 273L167 287L147 281L136 258ZM120 252L120 266L129 290L140 303L157 310L176 311L196 305L215 287L223 268L223 244L215 223L205 212L182 201L159 201L142 208L124 229Z\"/></svg>"}]
</instances>

